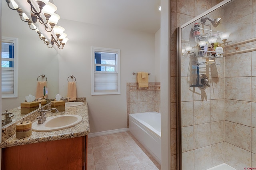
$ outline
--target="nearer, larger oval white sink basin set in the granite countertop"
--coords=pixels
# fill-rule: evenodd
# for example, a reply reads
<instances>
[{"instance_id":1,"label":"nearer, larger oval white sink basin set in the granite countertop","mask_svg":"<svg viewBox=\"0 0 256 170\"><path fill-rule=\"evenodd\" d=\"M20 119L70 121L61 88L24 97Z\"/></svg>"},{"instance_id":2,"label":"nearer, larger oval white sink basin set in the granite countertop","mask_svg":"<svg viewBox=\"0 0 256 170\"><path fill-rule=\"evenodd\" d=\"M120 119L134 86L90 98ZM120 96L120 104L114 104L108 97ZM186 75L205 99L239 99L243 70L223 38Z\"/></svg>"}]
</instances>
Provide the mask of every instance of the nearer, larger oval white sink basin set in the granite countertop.
<instances>
[{"instance_id":1,"label":"nearer, larger oval white sink basin set in the granite countertop","mask_svg":"<svg viewBox=\"0 0 256 170\"><path fill-rule=\"evenodd\" d=\"M37 132L50 132L77 125L82 121L79 115L58 115L46 118L46 122L41 125L37 121L32 123L32 130Z\"/></svg>"}]
</instances>

